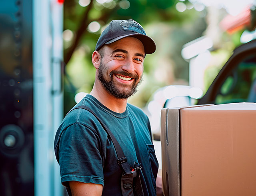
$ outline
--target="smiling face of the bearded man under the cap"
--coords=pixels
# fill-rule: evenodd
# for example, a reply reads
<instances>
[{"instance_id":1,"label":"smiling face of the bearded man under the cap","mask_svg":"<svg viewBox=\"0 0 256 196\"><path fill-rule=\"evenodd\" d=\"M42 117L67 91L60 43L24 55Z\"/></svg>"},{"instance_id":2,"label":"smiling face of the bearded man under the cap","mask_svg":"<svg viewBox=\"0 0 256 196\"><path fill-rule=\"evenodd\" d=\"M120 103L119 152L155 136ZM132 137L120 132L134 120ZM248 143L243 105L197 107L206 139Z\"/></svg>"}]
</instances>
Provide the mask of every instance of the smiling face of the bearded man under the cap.
<instances>
[{"instance_id":1,"label":"smiling face of the bearded man under the cap","mask_svg":"<svg viewBox=\"0 0 256 196\"><path fill-rule=\"evenodd\" d=\"M98 80L118 99L127 99L142 81L144 46L140 40L127 37L105 45L98 68Z\"/></svg>"}]
</instances>

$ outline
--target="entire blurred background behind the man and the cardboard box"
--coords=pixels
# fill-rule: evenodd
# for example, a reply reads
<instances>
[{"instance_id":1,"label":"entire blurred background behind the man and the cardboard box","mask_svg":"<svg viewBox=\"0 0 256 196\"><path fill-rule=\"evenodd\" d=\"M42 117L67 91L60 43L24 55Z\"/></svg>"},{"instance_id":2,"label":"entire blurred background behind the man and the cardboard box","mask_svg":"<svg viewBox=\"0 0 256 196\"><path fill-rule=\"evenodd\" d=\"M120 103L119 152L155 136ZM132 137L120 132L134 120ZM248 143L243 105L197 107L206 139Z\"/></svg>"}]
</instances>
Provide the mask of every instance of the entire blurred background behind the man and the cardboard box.
<instances>
[{"instance_id":1,"label":"entire blurred background behind the man and the cardboard box","mask_svg":"<svg viewBox=\"0 0 256 196\"><path fill-rule=\"evenodd\" d=\"M114 19L156 42L128 102L160 140L163 107L256 102L255 0L0 2L0 187L4 196L62 196L54 136L90 93L91 55Z\"/></svg>"}]
</instances>

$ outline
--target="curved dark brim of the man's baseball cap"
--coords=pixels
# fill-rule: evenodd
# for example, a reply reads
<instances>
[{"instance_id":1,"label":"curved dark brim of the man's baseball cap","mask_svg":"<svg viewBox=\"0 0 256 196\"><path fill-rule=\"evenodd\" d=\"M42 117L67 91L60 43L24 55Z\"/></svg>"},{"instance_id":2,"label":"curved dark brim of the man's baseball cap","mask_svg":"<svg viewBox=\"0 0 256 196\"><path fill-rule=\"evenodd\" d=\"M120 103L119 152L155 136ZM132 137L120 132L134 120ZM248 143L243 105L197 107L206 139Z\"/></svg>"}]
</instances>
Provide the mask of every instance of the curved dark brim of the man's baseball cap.
<instances>
[{"instance_id":1,"label":"curved dark brim of the man's baseball cap","mask_svg":"<svg viewBox=\"0 0 256 196\"><path fill-rule=\"evenodd\" d=\"M146 54L152 54L156 51L155 42L149 36L139 34L139 33L119 36L119 37L116 37L116 38L106 42L105 44L111 44L113 42L116 42L117 40L120 40L120 39L126 38L126 37L134 37L134 38L137 38L138 40L140 40L144 46L144 50L145 50Z\"/></svg>"}]
</instances>

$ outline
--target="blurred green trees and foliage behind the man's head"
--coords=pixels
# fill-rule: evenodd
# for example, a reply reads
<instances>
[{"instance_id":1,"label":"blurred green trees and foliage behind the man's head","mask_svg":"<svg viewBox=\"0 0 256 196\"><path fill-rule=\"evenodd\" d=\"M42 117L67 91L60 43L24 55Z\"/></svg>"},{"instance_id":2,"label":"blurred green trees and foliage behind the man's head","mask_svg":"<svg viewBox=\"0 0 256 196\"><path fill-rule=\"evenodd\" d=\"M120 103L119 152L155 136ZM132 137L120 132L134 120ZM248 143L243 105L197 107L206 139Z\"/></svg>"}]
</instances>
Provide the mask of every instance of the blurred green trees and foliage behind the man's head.
<instances>
[{"instance_id":1,"label":"blurred green trees and foliage behind the man's head","mask_svg":"<svg viewBox=\"0 0 256 196\"><path fill-rule=\"evenodd\" d=\"M92 89L95 69L91 63L91 55L100 33L114 19L138 21L157 44L156 52L146 56L144 82L138 93L130 99L133 104L144 107L159 87L188 84L188 62L184 61L180 52L184 44L204 34L207 27L205 11L190 9L180 13L175 8L177 0L113 0L104 4L91 0L86 7L80 6L78 1L64 2L64 30L73 32L72 40L64 41L65 108L74 104L74 95L77 92L89 93ZM122 4L129 6L122 8ZM99 22L101 29L91 33L88 32L88 24L93 21ZM238 40L240 34L241 32L233 39ZM217 68L210 68L213 71L206 72L206 89L220 68L217 65Z\"/></svg>"}]
</instances>

